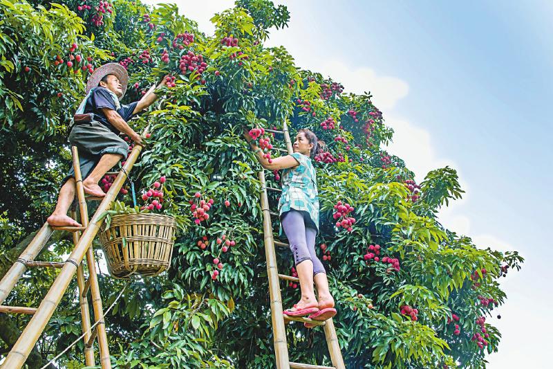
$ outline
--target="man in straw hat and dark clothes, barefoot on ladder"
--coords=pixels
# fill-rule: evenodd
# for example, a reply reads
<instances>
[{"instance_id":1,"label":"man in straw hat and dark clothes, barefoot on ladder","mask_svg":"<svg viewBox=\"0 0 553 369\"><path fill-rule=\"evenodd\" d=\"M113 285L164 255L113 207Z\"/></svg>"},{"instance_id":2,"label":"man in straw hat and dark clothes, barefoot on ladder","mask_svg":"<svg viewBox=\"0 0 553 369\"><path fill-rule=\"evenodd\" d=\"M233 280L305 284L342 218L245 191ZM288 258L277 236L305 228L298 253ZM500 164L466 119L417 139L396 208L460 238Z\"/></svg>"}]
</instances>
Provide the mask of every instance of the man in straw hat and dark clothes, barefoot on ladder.
<instances>
[{"instance_id":1,"label":"man in straw hat and dark clothes, barefoot on ladder","mask_svg":"<svg viewBox=\"0 0 553 369\"><path fill-rule=\"evenodd\" d=\"M134 132L127 122L158 98L152 88L139 101L120 105L119 99L124 96L128 82L129 75L122 65L108 63L100 66L88 78L86 98L77 109L77 114L93 114L90 122L75 122L69 134L69 142L79 150L79 163L84 178L82 184L88 195L106 195L98 186L98 181L121 159L126 158L129 151L129 145L119 134L126 134L135 144L140 145L140 134ZM167 80L163 78L158 87L166 84ZM75 171L71 167L59 191L54 213L47 219L50 226L80 226L67 215L74 198Z\"/></svg>"}]
</instances>

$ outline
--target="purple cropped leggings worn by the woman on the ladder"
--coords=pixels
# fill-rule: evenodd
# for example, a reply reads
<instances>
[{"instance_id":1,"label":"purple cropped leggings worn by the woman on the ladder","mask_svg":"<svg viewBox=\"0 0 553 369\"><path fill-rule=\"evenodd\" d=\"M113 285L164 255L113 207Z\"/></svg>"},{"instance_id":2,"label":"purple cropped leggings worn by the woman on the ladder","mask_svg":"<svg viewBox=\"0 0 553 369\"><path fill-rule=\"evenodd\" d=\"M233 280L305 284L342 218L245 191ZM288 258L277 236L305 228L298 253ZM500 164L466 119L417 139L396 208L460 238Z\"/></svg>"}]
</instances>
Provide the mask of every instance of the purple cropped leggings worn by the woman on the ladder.
<instances>
[{"instance_id":1,"label":"purple cropped leggings worn by the woman on the ladder","mask_svg":"<svg viewBox=\"0 0 553 369\"><path fill-rule=\"evenodd\" d=\"M306 227L303 214L298 210L287 211L282 217L282 228L284 229L284 233L286 233L286 237L288 237L288 243L294 255L296 266L304 260L311 260L313 262L314 276L317 273L326 273L323 263L317 258L317 254L315 253L317 230Z\"/></svg>"}]
</instances>

